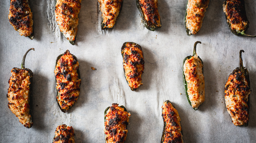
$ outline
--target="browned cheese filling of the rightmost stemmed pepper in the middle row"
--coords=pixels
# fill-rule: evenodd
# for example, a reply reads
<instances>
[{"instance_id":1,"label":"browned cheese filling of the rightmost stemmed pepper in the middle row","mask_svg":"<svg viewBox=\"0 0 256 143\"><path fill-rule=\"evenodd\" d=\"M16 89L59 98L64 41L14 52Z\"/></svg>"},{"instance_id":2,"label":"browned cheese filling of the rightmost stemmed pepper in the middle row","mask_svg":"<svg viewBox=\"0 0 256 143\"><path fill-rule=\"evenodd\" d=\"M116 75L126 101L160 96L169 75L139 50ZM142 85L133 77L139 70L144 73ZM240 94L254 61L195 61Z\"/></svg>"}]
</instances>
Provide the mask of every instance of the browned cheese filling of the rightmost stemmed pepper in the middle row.
<instances>
[{"instance_id":1,"label":"browned cheese filling of the rightmost stemmed pepper in the middle row","mask_svg":"<svg viewBox=\"0 0 256 143\"><path fill-rule=\"evenodd\" d=\"M225 85L225 103L234 125L245 125L249 121L249 107L247 105L250 87L245 75L234 70Z\"/></svg>"}]
</instances>

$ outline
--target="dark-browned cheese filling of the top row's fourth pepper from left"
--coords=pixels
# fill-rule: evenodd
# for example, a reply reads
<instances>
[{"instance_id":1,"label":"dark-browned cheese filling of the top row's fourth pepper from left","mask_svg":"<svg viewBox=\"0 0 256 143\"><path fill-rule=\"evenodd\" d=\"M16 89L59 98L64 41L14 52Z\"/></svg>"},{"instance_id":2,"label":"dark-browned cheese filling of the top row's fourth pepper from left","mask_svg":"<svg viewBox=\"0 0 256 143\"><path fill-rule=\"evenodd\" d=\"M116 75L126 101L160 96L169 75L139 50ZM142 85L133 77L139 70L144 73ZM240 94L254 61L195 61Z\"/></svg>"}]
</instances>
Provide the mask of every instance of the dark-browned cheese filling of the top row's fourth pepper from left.
<instances>
[{"instance_id":1,"label":"dark-browned cheese filling of the top row's fourth pepper from left","mask_svg":"<svg viewBox=\"0 0 256 143\"><path fill-rule=\"evenodd\" d=\"M158 0L139 0L139 6L149 26L161 27Z\"/></svg>"}]
</instances>

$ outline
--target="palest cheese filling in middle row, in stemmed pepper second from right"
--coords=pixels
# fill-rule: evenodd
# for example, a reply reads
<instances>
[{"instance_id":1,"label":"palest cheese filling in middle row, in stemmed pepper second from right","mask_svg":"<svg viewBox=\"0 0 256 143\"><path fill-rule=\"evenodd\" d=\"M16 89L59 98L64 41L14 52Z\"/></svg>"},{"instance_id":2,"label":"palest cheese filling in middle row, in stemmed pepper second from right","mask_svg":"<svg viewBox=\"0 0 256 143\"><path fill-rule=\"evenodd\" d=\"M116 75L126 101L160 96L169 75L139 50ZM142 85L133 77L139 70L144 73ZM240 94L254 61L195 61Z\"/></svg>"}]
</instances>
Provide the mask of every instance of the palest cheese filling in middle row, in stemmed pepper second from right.
<instances>
[{"instance_id":1,"label":"palest cheese filling in middle row, in stemmed pepper second from right","mask_svg":"<svg viewBox=\"0 0 256 143\"><path fill-rule=\"evenodd\" d=\"M198 109L199 105L204 102L203 63L197 55L192 56L185 61L183 70L191 106Z\"/></svg>"}]
</instances>

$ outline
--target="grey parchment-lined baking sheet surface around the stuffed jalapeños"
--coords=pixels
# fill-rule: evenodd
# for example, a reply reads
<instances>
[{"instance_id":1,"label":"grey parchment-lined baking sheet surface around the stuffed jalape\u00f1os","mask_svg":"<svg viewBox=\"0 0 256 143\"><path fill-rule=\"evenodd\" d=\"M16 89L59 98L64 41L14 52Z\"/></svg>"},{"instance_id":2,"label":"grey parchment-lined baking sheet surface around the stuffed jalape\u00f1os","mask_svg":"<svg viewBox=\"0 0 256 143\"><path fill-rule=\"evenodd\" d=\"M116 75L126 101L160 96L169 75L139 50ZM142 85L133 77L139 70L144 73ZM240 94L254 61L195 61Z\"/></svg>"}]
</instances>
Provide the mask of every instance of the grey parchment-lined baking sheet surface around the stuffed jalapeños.
<instances>
[{"instance_id":1,"label":"grey parchment-lined baking sheet surface around the stuffed jalape\u00f1os","mask_svg":"<svg viewBox=\"0 0 256 143\"><path fill-rule=\"evenodd\" d=\"M141 23L135 0L124 0L113 29L100 29L96 0L82 0L76 45L59 32L54 20L54 1L31 0L34 40L19 36L8 20L10 1L0 1L0 142L52 142L60 124L73 126L76 143L104 142L104 110L112 103L124 105L131 113L127 143L160 142L163 120L161 106L170 100L181 117L184 142L255 142L256 39L233 35L225 22L223 0L210 1L203 26L197 35L187 36L183 19L186 0L159 0L162 27L154 32ZM250 27L256 34L256 1L245 8ZM195 41L204 63L205 101L194 111L188 104L182 81L182 61L192 55ZM131 91L124 78L121 46L126 41L141 45L145 70L143 86ZM34 73L34 125L27 129L7 107L11 69L19 67L29 48L25 67ZM62 113L55 101L55 59L67 49L79 61L81 91L77 103ZM239 66L239 51L251 81L250 120L247 127L231 122L224 101L228 75ZM95 71L91 67L96 68Z\"/></svg>"}]
</instances>

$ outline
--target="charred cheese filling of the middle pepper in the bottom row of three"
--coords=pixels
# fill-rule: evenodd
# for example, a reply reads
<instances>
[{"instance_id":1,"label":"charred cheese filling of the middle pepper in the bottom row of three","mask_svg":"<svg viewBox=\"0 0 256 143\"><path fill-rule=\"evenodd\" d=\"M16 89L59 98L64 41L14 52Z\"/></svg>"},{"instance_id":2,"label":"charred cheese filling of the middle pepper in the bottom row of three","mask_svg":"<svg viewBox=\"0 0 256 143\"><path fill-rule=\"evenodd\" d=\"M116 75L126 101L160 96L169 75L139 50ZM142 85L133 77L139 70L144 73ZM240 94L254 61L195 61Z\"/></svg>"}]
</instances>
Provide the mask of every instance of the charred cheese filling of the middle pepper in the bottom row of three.
<instances>
[{"instance_id":1,"label":"charred cheese filling of the middle pepper in the bottom row of three","mask_svg":"<svg viewBox=\"0 0 256 143\"><path fill-rule=\"evenodd\" d=\"M113 103L105 116L105 142L124 143L131 114L118 107L117 103Z\"/></svg>"}]
</instances>

